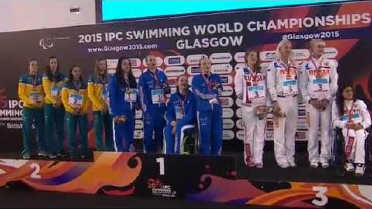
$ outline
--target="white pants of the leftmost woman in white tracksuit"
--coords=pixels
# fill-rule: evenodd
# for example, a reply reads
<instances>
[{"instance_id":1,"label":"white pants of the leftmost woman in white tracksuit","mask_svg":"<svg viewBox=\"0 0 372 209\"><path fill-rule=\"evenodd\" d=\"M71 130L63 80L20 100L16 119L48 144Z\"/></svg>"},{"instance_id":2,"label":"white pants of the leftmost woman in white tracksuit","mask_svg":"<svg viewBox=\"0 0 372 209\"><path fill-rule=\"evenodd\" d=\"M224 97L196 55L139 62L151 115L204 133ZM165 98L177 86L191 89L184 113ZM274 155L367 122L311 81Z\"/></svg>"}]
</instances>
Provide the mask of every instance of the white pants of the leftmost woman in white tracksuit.
<instances>
[{"instance_id":1,"label":"white pants of the leftmost woman in white tracksuit","mask_svg":"<svg viewBox=\"0 0 372 209\"><path fill-rule=\"evenodd\" d=\"M259 119L255 106L241 106L246 137L244 138L244 163L263 164L266 117Z\"/></svg>"}]
</instances>

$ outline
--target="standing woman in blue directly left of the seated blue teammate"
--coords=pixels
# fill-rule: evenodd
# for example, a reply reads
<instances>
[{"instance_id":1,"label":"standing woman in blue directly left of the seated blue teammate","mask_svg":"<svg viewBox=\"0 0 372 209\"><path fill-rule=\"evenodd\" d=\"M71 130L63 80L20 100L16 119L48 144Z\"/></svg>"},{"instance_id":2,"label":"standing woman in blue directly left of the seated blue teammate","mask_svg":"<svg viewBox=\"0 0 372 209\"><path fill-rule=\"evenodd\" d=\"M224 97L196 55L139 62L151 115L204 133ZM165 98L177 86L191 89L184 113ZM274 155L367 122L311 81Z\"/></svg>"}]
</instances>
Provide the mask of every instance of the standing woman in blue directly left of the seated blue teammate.
<instances>
[{"instance_id":1,"label":"standing woman in blue directly left of the seated blue teammate","mask_svg":"<svg viewBox=\"0 0 372 209\"><path fill-rule=\"evenodd\" d=\"M155 56L148 55L146 62L148 69L142 73L138 81L144 120L144 152L160 153L165 126L165 94L169 94L170 89L167 76L163 70L156 67Z\"/></svg>"}]
</instances>

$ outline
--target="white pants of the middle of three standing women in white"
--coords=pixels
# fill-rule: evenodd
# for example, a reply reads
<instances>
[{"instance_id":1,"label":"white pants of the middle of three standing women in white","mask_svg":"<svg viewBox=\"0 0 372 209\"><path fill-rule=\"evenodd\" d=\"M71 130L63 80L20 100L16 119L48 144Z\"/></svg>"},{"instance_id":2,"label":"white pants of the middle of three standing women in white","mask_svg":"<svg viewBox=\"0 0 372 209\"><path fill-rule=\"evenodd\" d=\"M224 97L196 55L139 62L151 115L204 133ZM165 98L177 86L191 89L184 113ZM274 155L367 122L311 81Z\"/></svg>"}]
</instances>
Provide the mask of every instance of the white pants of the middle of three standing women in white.
<instances>
[{"instance_id":1,"label":"white pants of the middle of three standing women in white","mask_svg":"<svg viewBox=\"0 0 372 209\"><path fill-rule=\"evenodd\" d=\"M295 135L297 130L297 97L278 97L280 112L285 118L274 116L274 151L278 164L295 162ZM277 122L276 122L277 120Z\"/></svg>"}]
</instances>

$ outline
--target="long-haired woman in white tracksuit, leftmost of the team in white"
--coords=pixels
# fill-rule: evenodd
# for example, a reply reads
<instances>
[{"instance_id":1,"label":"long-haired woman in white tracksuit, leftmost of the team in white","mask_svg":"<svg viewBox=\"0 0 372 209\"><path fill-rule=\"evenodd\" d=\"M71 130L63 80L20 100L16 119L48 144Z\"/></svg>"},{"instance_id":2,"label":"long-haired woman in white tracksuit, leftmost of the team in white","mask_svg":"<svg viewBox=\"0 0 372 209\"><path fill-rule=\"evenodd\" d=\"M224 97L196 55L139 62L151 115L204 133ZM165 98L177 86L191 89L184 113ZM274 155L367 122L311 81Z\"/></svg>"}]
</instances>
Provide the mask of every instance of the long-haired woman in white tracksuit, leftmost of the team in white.
<instances>
[{"instance_id":1,"label":"long-haired woman in white tracksuit, leftmost of the team in white","mask_svg":"<svg viewBox=\"0 0 372 209\"><path fill-rule=\"evenodd\" d=\"M235 73L235 94L241 100L244 122L244 163L248 167L263 167L266 115L270 105L266 88L266 71L259 64L259 53L248 49L244 55L246 66Z\"/></svg>"}]
</instances>

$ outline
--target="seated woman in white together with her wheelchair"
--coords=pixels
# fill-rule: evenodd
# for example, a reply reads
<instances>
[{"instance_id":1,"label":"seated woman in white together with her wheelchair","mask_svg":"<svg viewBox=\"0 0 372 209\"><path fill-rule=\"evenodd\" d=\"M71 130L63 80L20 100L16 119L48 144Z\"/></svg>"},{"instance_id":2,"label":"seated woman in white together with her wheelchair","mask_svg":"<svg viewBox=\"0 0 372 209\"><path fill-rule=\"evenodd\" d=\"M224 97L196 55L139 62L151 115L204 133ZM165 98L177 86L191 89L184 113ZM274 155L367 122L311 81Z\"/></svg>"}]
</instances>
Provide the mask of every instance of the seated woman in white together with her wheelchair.
<instances>
[{"instance_id":1,"label":"seated woman in white together with her wheelchair","mask_svg":"<svg viewBox=\"0 0 372 209\"><path fill-rule=\"evenodd\" d=\"M332 106L333 160L339 175L354 172L362 176L372 163L371 116L366 104L354 95L352 85L346 84L338 89Z\"/></svg>"}]
</instances>

